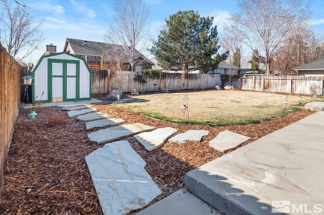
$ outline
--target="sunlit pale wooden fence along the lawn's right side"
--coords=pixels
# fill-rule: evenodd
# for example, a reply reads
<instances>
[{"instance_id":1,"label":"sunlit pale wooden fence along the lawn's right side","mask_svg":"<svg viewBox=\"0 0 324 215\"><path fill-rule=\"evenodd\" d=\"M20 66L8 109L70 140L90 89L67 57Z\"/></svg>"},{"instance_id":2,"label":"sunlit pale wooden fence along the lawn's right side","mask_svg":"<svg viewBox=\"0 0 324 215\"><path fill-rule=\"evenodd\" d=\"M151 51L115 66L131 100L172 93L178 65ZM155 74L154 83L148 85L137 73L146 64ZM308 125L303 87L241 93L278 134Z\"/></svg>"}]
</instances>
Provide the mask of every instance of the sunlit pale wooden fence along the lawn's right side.
<instances>
[{"instance_id":1,"label":"sunlit pale wooden fence along the lawn's right side","mask_svg":"<svg viewBox=\"0 0 324 215\"><path fill-rule=\"evenodd\" d=\"M310 76L242 76L241 89L254 91L312 94L310 87L317 86L323 95L324 77Z\"/></svg>"}]
</instances>

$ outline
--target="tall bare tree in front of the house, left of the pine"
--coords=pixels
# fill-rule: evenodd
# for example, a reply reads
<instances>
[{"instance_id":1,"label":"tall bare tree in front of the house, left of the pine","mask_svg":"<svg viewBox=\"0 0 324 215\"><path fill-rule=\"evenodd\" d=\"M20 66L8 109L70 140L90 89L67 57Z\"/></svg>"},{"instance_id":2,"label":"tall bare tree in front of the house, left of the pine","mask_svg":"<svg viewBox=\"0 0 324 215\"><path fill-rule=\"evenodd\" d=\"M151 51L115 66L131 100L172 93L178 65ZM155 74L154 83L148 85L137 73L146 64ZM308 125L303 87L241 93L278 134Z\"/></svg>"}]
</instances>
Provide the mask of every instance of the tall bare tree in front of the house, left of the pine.
<instances>
[{"instance_id":1,"label":"tall bare tree in front of the house, left of the pine","mask_svg":"<svg viewBox=\"0 0 324 215\"><path fill-rule=\"evenodd\" d=\"M143 57L141 52L148 48L149 9L142 0L114 0L112 8L115 14L103 39L121 45L123 58L134 71L134 65L140 63L139 58Z\"/></svg>"}]
</instances>

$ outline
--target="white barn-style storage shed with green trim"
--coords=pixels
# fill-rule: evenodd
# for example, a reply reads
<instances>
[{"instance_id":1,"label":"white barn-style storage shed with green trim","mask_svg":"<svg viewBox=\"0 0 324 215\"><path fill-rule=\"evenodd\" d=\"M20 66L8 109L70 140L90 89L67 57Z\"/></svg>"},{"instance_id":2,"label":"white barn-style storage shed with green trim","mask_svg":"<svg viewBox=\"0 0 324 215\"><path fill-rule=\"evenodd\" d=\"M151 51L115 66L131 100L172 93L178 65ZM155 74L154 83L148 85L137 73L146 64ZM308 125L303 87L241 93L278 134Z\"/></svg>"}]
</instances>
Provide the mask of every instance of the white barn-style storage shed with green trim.
<instances>
[{"instance_id":1,"label":"white barn-style storage shed with green trim","mask_svg":"<svg viewBox=\"0 0 324 215\"><path fill-rule=\"evenodd\" d=\"M33 102L91 99L92 73L82 58L66 52L43 56L30 75L34 78Z\"/></svg>"}]
</instances>

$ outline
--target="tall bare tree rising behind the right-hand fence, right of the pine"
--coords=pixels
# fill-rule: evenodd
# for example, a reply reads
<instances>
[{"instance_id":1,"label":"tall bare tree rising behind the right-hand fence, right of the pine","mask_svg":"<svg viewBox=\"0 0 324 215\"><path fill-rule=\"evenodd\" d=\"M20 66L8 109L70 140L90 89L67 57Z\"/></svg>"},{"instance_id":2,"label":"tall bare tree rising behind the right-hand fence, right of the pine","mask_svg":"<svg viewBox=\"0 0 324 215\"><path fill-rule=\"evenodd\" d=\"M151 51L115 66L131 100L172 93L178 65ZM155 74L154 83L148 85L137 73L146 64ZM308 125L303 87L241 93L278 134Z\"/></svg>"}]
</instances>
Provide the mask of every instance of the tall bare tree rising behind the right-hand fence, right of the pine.
<instances>
[{"instance_id":1,"label":"tall bare tree rising behind the right-hand fence, right of the pine","mask_svg":"<svg viewBox=\"0 0 324 215\"><path fill-rule=\"evenodd\" d=\"M239 0L240 11L231 16L232 27L241 32L245 44L265 55L270 74L273 52L297 26L310 20L309 4L301 0Z\"/></svg>"}]
</instances>

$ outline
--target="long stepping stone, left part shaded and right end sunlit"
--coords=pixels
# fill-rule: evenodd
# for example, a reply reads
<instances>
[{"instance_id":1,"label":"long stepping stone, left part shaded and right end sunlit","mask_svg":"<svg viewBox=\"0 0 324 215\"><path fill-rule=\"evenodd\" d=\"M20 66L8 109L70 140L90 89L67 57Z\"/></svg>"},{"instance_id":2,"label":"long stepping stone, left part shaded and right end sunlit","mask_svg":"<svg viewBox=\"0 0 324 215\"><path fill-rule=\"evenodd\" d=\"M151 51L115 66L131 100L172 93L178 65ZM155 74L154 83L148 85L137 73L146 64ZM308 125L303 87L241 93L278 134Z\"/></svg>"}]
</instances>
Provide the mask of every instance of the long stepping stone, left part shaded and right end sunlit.
<instances>
[{"instance_id":1,"label":"long stepping stone, left part shaded and right end sunlit","mask_svg":"<svg viewBox=\"0 0 324 215\"><path fill-rule=\"evenodd\" d=\"M154 127L143 125L141 123L133 123L101 129L99 131L88 134L88 137L91 141L97 143L106 143L133 134L139 134L144 131L152 131L154 129Z\"/></svg>"}]
</instances>

